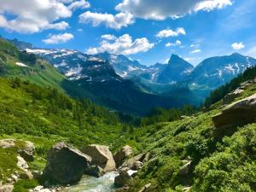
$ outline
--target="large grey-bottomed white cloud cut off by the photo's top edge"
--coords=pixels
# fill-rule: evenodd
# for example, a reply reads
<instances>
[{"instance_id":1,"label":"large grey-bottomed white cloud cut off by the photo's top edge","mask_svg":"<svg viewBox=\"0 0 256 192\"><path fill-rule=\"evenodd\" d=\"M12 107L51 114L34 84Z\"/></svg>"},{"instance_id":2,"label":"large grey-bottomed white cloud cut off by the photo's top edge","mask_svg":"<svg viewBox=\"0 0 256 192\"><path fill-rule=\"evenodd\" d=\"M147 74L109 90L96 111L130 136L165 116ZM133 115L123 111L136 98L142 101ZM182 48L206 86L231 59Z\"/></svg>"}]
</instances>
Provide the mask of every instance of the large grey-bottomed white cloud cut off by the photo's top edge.
<instances>
[{"instance_id":1,"label":"large grey-bottomed white cloud cut off by the photo's top edge","mask_svg":"<svg viewBox=\"0 0 256 192\"><path fill-rule=\"evenodd\" d=\"M222 9L231 4L231 0L123 0L115 9L138 18L165 20L200 10Z\"/></svg>"}]
</instances>

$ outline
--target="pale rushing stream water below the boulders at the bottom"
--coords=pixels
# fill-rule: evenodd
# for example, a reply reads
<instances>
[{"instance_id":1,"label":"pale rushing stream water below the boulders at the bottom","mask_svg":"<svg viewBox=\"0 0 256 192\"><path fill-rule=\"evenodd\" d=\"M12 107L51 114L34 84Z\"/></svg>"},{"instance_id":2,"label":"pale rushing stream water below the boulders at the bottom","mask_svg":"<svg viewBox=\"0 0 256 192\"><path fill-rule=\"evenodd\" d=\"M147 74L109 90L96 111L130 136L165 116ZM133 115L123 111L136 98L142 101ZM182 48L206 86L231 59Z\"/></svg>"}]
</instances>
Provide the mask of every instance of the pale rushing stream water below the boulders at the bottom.
<instances>
[{"instance_id":1,"label":"pale rushing stream water below the boulders at the bottom","mask_svg":"<svg viewBox=\"0 0 256 192\"><path fill-rule=\"evenodd\" d=\"M78 184L63 189L63 192L111 192L114 177L118 175L118 172L108 172L98 178L84 176Z\"/></svg>"}]
</instances>

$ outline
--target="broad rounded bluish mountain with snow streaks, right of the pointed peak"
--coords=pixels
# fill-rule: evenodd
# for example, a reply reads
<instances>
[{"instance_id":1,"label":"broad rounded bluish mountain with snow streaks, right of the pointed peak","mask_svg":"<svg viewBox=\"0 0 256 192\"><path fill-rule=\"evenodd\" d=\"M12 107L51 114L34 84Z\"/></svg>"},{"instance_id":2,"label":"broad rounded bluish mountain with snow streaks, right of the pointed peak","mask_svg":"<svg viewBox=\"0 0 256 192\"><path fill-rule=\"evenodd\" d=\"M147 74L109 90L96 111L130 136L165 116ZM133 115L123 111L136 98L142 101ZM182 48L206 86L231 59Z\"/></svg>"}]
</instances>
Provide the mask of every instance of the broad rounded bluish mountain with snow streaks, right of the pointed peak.
<instances>
[{"instance_id":1,"label":"broad rounded bluish mountain with snow streaks, right of the pointed peak","mask_svg":"<svg viewBox=\"0 0 256 192\"><path fill-rule=\"evenodd\" d=\"M255 65L254 58L238 53L211 57L202 61L190 73L189 84L192 89L213 90L243 73L247 67Z\"/></svg>"}]
</instances>

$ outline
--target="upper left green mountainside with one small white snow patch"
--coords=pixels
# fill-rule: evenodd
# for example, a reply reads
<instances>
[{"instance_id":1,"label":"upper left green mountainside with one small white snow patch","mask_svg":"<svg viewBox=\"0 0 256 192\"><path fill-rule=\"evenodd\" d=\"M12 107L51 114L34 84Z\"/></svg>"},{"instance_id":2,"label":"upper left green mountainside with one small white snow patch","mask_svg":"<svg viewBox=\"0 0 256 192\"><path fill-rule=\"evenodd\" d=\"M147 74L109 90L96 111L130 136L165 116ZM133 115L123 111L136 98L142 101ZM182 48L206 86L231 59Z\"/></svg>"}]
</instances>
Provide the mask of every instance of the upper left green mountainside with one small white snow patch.
<instances>
[{"instance_id":1,"label":"upper left green mountainside with one small white snow patch","mask_svg":"<svg viewBox=\"0 0 256 192\"><path fill-rule=\"evenodd\" d=\"M65 79L55 67L36 55L20 51L14 44L0 38L0 75L20 77L32 83L60 88Z\"/></svg>"}]
</instances>

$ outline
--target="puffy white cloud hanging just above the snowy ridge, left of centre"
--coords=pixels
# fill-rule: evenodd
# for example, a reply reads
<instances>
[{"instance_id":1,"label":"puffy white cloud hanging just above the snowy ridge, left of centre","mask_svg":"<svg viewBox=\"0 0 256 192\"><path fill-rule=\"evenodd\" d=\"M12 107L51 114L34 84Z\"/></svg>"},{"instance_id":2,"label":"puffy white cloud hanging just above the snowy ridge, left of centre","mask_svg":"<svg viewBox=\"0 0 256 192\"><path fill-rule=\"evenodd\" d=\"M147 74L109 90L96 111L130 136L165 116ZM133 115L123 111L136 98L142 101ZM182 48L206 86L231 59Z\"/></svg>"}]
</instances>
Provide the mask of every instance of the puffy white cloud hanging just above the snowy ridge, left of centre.
<instances>
[{"instance_id":1,"label":"puffy white cloud hanging just above the snowy ridge, left of centre","mask_svg":"<svg viewBox=\"0 0 256 192\"><path fill-rule=\"evenodd\" d=\"M147 38L137 38L132 40L129 34L125 34L114 41L102 40L99 47L87 49L87 54L97 54L108 51L115 55L132 55L139 52L147 52L148 49L154 47Z\"/></svg>"}]
</instances>

